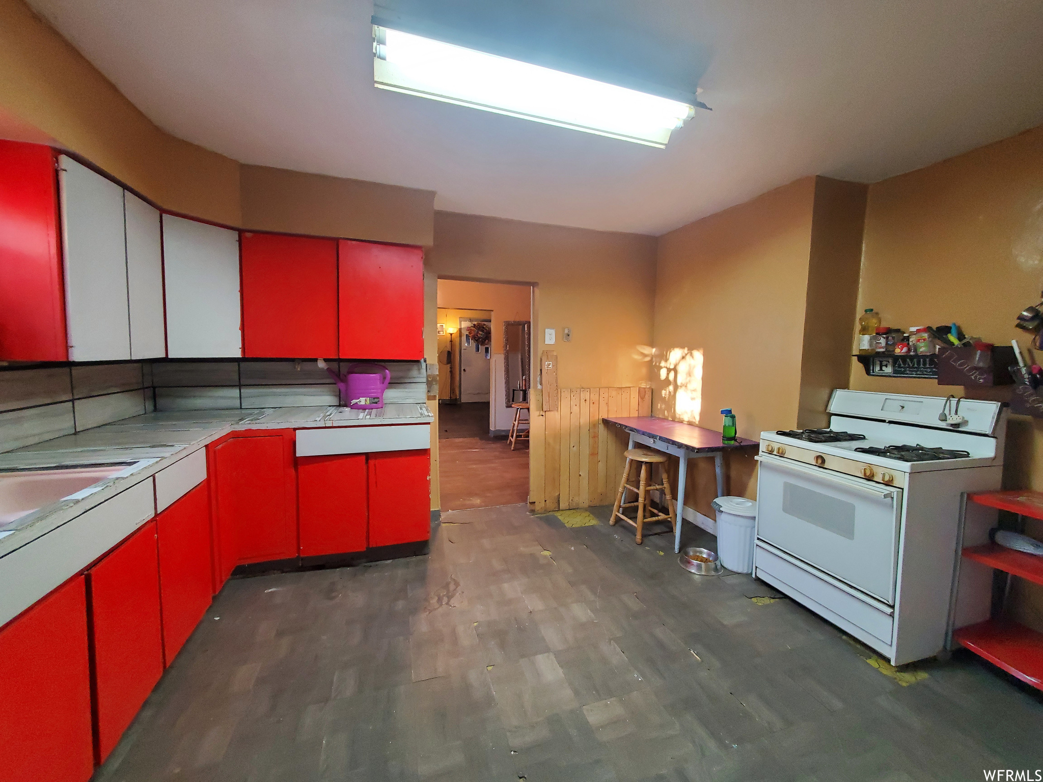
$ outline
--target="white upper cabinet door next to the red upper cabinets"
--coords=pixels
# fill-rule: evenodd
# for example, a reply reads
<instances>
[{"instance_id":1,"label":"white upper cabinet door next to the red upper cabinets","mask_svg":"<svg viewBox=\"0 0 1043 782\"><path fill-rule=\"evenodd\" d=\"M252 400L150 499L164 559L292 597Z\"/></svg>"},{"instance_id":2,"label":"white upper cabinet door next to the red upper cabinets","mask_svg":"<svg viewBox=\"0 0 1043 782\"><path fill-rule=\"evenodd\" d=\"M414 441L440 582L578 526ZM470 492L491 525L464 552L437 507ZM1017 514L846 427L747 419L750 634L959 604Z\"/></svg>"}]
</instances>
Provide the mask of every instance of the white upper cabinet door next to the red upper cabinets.
<instances>
[{"instance_id":1,"label":"white upper cabinet door next to the red upper cabinets","mask_svg":"<svg viewBox=\"0 0 1043 782\"><path fill-rule=\"evenodd\" d=\"M168 356L242 356L239 234L164 215L163 263Z\"/></svg>"}]
</instances>

